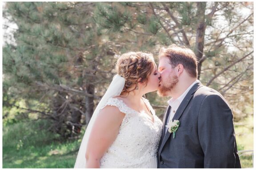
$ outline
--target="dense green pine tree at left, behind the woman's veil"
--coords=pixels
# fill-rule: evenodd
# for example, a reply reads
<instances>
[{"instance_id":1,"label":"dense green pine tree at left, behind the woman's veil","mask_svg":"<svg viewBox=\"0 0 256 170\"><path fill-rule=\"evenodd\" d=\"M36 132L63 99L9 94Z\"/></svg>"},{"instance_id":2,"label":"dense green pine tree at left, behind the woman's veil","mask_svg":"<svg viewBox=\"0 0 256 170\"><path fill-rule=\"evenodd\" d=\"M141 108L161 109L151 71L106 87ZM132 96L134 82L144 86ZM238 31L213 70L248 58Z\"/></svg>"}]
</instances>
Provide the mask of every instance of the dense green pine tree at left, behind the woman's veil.
<instances>
[{"instance_id":1,"label":"dense green pine tree at left, behind the woman's veil","mask_svg":"<svg viewBox=\"0 0 256 170\"><path fill-rule=\"evenodd\" d=\"M18 26L17 45L4 46L5 93L19 91L16 100L25 99L30 112L51 119L52 130L65 137L88 124L113 75L116 53L97 31L94 8L89 2L8 2L4 11Z\"/></svg>"}]
</instances>

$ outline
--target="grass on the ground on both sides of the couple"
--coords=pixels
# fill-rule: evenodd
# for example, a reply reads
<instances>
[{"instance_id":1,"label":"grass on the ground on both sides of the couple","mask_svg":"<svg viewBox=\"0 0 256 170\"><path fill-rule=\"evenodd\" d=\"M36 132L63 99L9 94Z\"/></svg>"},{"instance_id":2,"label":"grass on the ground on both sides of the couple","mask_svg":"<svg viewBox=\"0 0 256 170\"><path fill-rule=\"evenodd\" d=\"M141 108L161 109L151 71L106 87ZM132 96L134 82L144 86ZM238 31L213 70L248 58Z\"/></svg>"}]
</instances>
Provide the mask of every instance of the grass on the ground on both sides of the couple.
<instances>
[{"instance_id":1,"label":"grass on the ground on both sides of the couple","mask_svg":"<svg viewBox=\"0 0 256 170\"><path fill-rule=\"evenodd\" d=\"M253 150L253 119L236 125L239 150ZM3 168L73 168L80 140L63 141L47 131L46 120L3 127ZM252 156L240 157L242 168L252 167Z\"/></svg>"}]
</instances>

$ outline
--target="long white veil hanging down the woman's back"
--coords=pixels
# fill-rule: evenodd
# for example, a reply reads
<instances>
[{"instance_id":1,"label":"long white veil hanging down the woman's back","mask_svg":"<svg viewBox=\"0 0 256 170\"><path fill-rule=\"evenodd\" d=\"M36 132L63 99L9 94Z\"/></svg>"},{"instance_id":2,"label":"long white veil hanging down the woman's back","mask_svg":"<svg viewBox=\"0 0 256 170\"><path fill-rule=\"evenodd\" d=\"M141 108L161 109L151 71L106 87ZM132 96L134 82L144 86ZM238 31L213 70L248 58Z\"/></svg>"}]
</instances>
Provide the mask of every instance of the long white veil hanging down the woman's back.
<instances>
[{"instance_id":1,"label":"long white veil hanging down the woman's back","mask_svg":"<svg viewBox=\"0 0 256 170\"><path fill-rule=\"evenodd\" d=\"M79 151L78 151L78 155L76 157L76 163L75 163L74 168L85 168L85 165L86 165L86 159L85 159L86 148L87 148L89 136L90 136L91 131L92 131L92 126L93 126L93 124L96 120L96 117L99 114L100 109L104 106L104 104L108 101L108 99L110 97L120 95L120 93L122 92L122 90L124 88L124 83L125 83L124 77L121 77L118 74L116 74L113 77L113 80L112 80L111 84L109 85L106 93L101 98L99 104L97 105L95 111L93 112L92 118L91 118L91 120L90 120L90 122L89 122L89 124L86 128L82 143L81 143Z\"/></svg>"}]
</instances>

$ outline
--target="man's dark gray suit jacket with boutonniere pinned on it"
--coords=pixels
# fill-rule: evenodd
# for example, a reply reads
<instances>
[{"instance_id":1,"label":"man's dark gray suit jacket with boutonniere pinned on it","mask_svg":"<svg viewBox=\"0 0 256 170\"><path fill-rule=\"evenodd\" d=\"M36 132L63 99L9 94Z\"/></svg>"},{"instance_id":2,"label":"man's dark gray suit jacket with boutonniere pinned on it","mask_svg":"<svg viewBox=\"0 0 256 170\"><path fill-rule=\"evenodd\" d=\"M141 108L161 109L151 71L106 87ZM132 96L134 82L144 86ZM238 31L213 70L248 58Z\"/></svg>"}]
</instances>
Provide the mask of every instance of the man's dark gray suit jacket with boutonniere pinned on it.
<instances>
[{"instance_id":1,"label":"man's dark gray suit jacket with boutonniere pinned on it","mask_svg":"<svg viewBox=\"0 0 256 170\"><path fill-rule=\"evenodd\" d=\"M158 168L241 168L233 114L224 97L196 83L181 102L173 120L180 126L165 134L166 109L158 148Z\"/></svg>"}]
</instances>

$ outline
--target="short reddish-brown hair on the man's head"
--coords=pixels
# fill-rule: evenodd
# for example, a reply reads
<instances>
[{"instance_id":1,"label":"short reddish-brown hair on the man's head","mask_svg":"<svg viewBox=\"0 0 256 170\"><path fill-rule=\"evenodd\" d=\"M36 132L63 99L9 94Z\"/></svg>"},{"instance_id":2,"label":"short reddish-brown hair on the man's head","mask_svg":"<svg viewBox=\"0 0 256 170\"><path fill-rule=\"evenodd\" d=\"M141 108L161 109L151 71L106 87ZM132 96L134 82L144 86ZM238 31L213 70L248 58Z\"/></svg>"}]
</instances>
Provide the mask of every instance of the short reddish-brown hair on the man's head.
<instances>
[{"instance_id":1,"label":"short reddish-brown hair on the man's head","mask_svg":"<svg viewBox=\"0 0 256 170\"><path fill-rule=\"evenodd\" d=\"M197 78L196 54L189 48L177 46L176 44L172 44L167 48L162 47L159 50L159 58L161 57L169 58L172 68L178 66L178 64L182 64L191 77Z\"/></svg>"}]
</instances>

